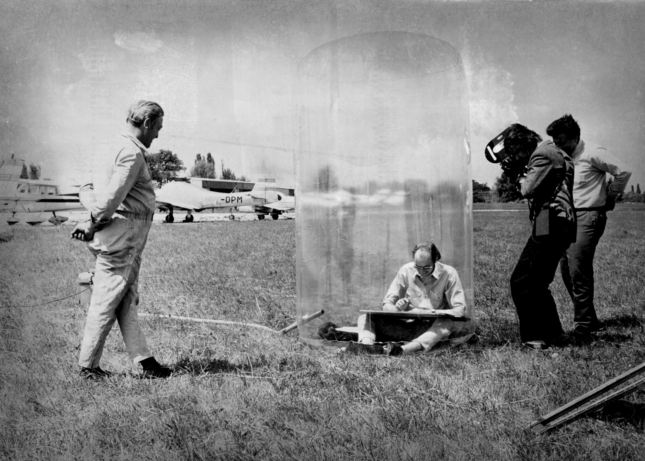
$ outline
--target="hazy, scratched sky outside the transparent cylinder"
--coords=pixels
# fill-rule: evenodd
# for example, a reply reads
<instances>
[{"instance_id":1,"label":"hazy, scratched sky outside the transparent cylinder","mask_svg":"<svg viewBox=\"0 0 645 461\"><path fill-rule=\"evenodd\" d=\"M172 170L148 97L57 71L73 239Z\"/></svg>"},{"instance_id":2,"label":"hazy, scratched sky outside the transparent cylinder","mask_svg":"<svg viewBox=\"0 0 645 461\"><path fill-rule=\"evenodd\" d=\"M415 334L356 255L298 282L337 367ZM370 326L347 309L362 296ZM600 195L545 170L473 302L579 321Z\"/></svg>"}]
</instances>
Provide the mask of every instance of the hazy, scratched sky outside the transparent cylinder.
<instances>
[{"instance_id":1,"label":"hazy, scratched sky outside the transparent cylinder","mask_svg":"<svg viewBox=\"0 0 645 461\"><path fill-rule=\"evenodd\" d=\"M342 37L402 31L461 56L473 179L501 174L484 147L510 123L546 137L571 113L645 187L644 23L640 1L5 0L0 155L77 183L128 106L151 99L166 112L151 151L188 169L210 152L238 176L293 187L299 63Z\"/></svg>"}]
</instances>

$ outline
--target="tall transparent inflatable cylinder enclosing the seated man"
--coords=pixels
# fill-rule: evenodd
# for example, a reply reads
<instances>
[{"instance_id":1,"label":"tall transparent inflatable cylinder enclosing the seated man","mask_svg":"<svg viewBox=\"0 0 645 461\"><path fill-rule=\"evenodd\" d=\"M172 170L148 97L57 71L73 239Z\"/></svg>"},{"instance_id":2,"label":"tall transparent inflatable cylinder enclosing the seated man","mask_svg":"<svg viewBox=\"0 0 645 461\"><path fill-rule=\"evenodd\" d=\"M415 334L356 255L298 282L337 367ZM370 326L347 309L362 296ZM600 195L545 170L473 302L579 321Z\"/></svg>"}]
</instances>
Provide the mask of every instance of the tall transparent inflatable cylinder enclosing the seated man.
<instances>
[{"instance_id":1,"label":"tall transparent inflatable cylinder enclosing the seated man","mask_svg":"<svg viewBox=\"0 0 645 461\"><path fill-rule=\"evenodd\" d=\"M380 310L414 245L432 240L461 278L469 320L450 343L464 342L475 325L468 90L459 53L407 32L346 37L303 59L295 96L301 338L338 347L319 338L319 327L356 325L361 309Z\"/></svg>"}]
</instances>

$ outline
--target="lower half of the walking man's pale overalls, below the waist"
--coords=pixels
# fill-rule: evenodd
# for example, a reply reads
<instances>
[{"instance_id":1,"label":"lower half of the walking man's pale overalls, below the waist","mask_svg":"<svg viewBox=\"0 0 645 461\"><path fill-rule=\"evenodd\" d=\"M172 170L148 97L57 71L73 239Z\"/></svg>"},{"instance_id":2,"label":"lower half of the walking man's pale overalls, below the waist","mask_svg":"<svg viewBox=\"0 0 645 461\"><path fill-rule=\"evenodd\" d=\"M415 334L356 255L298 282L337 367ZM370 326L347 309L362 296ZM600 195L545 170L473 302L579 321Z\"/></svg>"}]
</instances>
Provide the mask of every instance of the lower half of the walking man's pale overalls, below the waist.
<instances>
[{"instance_id":1,"label":"lower half of the walking man's pale overalls, below the waist","mask_svg":"<svg viewBox=\"0 0 645 461\"><path fill-rule=\"evenodd\" d=\"M130 361L152 357L139 325L137 304L141 252L148 240L150 218L115 215L94 234L87 247L95 256L94 286L81 343L79 365L99 365L105 339L114 322L119 322Z\"/></svg>"}]
</instances>

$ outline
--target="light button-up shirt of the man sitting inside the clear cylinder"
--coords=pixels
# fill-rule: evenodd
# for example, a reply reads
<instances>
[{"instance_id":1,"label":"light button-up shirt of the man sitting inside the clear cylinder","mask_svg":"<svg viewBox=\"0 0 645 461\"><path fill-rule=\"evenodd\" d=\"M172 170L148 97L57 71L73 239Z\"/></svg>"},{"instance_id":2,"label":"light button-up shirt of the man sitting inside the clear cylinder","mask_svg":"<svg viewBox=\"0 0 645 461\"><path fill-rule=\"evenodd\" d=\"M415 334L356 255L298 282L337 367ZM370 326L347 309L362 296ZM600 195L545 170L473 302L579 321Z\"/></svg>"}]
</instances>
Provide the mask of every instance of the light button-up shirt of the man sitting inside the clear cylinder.
<instances>
[{"instance_id":1,"label":"light button-up shirt of the man sitting inside the clear cylinder","mask_svg":"<svg viewBox=\"0 0 645 461\"><path fill-rule=\"evenodd\" d=\"M419 309L462 309L466 312L466 296L454 267L435 263L432 274L422 278L414 263L399 269L383 298L383 304L395 304L402 298L410 299L410 307Z\"/></svg>"}]
</instances>

